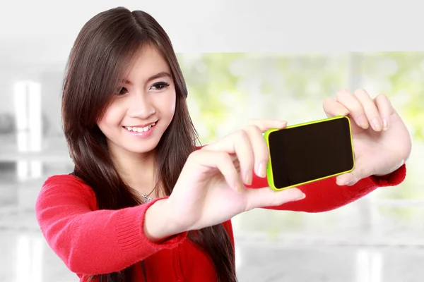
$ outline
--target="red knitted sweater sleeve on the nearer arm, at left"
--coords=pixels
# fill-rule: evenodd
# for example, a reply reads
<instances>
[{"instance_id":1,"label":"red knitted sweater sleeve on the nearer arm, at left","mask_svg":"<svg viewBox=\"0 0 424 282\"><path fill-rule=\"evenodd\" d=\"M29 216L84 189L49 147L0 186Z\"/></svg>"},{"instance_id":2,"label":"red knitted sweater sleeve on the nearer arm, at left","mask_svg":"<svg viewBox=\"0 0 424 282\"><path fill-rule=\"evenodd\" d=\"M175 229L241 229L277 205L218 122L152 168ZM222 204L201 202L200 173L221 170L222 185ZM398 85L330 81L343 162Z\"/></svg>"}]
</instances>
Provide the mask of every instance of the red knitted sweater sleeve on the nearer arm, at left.
<instances>
[{"instance_id":1,"label":"red knitted sweater sleeve on the nearer arm, at left","mask_svg":"<svg viewBox=\"0 0 424 282\"><path fill-rule=\"evenodd\" d=\"M162 243L143 233L147 204L96 210L94 192L73 176L48 178L37 197L35 214L48 245L76 274L122 270L155 252L181 243L187 232Z\"/></svg>"}]
</instances>

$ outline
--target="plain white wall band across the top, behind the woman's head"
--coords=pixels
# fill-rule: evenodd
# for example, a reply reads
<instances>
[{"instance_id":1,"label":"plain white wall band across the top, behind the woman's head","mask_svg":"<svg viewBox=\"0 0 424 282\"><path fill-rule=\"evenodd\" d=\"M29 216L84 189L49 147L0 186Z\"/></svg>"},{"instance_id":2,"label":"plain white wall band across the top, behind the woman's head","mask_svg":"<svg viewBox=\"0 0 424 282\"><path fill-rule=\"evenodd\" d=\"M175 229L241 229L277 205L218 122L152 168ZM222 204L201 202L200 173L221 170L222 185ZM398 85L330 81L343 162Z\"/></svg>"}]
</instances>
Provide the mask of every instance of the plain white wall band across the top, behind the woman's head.
<instances>
[{"instance_id":1,"label":"plain white wall band across the top, behind the woman's head","mask_svg":"<svg viewBox=\"0 0 424 282\"><path fill-rule=\"evenodd\" d=\"M62 62L100 11L151 13L177 52L419 51L420 1L8 1L0 8L0 64Z\"/></svg>"}]
</instances>

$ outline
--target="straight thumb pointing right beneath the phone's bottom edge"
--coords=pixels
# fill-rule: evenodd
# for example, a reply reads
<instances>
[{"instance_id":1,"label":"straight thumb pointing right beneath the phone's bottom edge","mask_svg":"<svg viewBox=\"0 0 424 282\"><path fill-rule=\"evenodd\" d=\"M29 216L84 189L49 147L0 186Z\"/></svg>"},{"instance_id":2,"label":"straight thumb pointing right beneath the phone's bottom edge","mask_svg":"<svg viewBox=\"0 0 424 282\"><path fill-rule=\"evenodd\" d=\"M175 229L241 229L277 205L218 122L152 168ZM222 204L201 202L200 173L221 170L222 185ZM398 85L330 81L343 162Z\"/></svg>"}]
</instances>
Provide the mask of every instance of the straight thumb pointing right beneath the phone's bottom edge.
<instances>
[{"instance_id":1,"label":"straight thumb pointing right beneath the phone's bottom edge","mask_svg":"<svg viewBox=\"0 0 424 282\"><path fill-rule=\"evenodd\" d=\"M281 191L274 191L270 188L247 189L245 195L247 210L257 207L275 207L286 202L305 198L305 194L298 188L289 188Z\"/></svg>"}]
</instances>

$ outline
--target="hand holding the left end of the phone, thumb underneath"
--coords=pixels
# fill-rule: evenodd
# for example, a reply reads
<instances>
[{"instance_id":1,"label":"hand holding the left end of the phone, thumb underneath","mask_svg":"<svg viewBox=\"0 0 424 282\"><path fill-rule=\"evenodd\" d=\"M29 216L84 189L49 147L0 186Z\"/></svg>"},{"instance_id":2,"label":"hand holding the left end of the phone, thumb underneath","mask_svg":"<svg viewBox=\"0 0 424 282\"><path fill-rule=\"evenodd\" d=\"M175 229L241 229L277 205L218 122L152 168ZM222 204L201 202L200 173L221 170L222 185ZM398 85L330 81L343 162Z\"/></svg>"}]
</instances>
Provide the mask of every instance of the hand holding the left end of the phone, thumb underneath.
<instances>
[{"instance_id":1,"label":"hand holding the left end of the phone, thumb underneath","mask_svg":"<svg viewBox=\"0 0 424 282\"><path fill-rule=\"evenodd\" d=\"M266 176L269 150L262 133L284 128L285 121L254 120L190 154L163 208L171 216L172 233L223 223L256 207L271 207L305 197L298 188L249 189L253 171Z\"/></svg>"}]
</instances>

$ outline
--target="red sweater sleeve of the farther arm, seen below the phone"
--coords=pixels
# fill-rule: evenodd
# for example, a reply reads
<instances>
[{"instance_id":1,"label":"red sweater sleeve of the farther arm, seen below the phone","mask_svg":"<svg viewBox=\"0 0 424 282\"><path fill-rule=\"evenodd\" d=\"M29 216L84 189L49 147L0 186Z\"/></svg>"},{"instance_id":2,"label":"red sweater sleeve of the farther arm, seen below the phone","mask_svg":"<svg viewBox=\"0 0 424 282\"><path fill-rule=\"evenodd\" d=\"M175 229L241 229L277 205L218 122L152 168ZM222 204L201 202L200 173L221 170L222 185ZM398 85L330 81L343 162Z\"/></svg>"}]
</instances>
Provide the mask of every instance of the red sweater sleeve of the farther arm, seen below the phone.
<instances>
[{"instance_id":1,"label":"red sweater sleeve of the farther arm, seen below the phone","mask_svg":"<svg viewBox=\"0 0 424 282\"><path fill-rule=\"evenodd\" d=\"M326 178L298 188L305 193L303 200L288 202L277 207L264 207L265 209L288 210L295 212L326 212L337 209L355 200L364 197L379 187L399 185L406 177L406 165L404 164L396 171L387 176L370 176L363 178L352 186L339 186L336 177ZM267 187L266 178L254 176L249 188Z\"/></svg>"}]
</instances>

